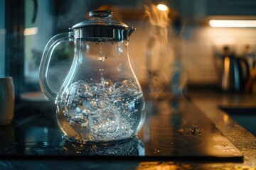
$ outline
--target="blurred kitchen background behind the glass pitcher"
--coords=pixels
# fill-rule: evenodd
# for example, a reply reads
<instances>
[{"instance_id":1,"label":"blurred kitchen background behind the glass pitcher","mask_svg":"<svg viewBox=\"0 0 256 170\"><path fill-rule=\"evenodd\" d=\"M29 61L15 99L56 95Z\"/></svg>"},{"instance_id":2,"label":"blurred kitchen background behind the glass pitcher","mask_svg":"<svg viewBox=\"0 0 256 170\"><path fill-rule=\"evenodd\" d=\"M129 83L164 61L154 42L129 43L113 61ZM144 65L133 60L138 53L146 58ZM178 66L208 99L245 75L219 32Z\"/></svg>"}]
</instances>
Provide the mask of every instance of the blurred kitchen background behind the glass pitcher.
<instances>
[{"instance_id":1,"label":"blurred kitchen background behind the glass pitcher","mask_svg":"<svg viewBox=\"0 0 256 170\"><path fill-rule=\"evenodd\" d=\"M167 11L157 4L165 4ZM224 50L247 60L249 69L255 62L254 0L0 0L0 77L14 77L16 96L40 91L38 67L48 40L96 9L112 10L114 19L137 28L129 57L143 87L160 80L164 88L176 84L225 91ZM69 47L60 45L51 63L56 89L73 59ZM245 69L240 77L248 81ZM233 91L245 92L245 84Z\"/></svg>"}]
</instances>

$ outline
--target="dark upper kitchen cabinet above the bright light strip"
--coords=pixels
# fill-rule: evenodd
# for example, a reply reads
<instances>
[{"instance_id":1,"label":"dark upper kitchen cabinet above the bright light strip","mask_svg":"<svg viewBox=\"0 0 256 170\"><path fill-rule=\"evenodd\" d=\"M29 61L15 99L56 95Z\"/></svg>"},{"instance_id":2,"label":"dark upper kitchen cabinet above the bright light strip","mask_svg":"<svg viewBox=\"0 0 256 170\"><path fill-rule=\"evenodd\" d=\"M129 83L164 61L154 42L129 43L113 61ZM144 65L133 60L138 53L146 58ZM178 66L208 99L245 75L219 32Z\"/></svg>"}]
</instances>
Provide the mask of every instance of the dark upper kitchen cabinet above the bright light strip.
<instances>
[{"instance_id":1,"label":"dark upper kitchen cabinet above the bright light strip","mask_svg":"<svg viewBox=\"0 0 256 170\"><path fill-rule=\"evenodd\" d=\"M208 16L256 16L254 0L193 0L172 1L186 22L198 22Z\"/></svg>"}]
</instances>

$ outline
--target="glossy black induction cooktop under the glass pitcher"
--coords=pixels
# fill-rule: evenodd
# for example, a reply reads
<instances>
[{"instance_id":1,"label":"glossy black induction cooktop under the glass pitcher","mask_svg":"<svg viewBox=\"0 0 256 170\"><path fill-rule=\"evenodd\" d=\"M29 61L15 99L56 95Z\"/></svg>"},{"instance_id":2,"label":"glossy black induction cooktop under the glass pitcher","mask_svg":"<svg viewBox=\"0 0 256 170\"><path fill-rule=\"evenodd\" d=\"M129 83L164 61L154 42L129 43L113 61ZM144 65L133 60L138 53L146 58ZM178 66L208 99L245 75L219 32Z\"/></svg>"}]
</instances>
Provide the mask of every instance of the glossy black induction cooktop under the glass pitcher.
<instances>
[{"instance_id":1,"label":"glossy black induction cooktop under the glass pitcher","mask_svg":"<svg viewBox=\"0 0 256 170\"><path fill-rule=\"evenodd\" d=\"M55 115L54 111L46 114L27 107L17 114L11 125L0 127L0 159L243 159L241 152L186 98L146 100L146 120L139 134L108 145L65 140L54 116L49 116Z\"/></svg>"}]
</instances>

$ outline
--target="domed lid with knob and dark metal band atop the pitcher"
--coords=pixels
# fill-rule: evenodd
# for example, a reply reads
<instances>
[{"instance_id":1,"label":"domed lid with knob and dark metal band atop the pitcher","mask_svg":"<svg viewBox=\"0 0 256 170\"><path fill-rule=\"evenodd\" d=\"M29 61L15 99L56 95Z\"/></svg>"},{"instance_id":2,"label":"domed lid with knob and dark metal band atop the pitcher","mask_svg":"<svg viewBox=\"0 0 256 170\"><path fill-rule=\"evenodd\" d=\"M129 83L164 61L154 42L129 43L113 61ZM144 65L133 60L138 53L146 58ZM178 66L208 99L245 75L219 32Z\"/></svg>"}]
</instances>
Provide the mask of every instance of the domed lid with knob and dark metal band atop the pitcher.
<instances>
[{"instance_id":1,"label":"domed lid with knob and dark metal band atop the pitcher","mask_svg":"<svg viewBox=\"0 0 256 170\"><path fill-rule=\"evenodd\" d=\"M70 30L75 38L90 41L120 41L128 40L135 28L129 28L125 23L112 20L112 11L91 11L90 19L75 24Z\"/></svg>"}]
</instances>

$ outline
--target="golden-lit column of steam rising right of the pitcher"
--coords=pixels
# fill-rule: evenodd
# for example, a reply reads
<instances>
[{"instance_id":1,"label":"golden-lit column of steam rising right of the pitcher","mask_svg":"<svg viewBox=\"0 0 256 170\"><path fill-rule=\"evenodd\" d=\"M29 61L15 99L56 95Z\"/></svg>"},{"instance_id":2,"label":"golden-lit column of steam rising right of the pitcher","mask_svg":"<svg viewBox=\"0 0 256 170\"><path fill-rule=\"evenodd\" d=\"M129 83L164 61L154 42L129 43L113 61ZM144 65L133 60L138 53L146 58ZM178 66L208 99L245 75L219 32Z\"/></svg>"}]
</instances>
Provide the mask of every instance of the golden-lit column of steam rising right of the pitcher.
<instances>
[{"instance_id":1,"label":"golden-lit column of steam rising right of the pitcher","mask_svg":"<svg viewBox=\"0 0 256 170\"><path fill-rule=\"evenodd\" d=\"M154 4L145 6L149 41L146 47L146 67L149 77L149 90L154 97L169 90L171 63L174 52L171 47L171 20L169 10L159 11Z\"/></svg>"}]
</instances>

